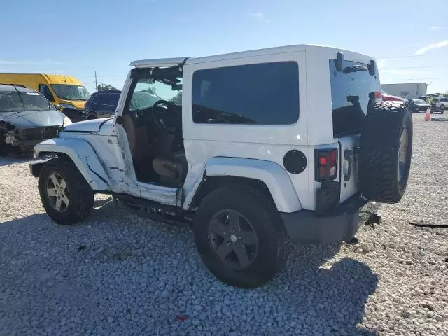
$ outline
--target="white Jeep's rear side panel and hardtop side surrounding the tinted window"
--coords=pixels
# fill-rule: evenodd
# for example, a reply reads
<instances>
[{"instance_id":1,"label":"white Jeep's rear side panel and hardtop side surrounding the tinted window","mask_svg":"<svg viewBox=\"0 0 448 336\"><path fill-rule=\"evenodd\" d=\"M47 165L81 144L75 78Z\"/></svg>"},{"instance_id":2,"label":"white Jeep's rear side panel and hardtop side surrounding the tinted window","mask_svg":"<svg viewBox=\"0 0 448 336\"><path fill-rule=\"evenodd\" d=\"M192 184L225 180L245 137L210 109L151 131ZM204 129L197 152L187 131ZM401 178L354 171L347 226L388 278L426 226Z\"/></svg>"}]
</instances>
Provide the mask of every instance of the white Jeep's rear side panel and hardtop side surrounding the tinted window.
<instances>
[{"instance_id":1,"label":"white Jeep's rear side panel and hardtop side surrounding the tinted window","mask_svg":"<svg viewBox=\"0 0 448 336\"><path fill-rule=\"evenodd\" d=\"M297 48L300 47L300 51ZM272 48L267 50L254 50L252 52L241 52L229 55L212 57L202 57L198 59L188 59L183 69L183 137L188 160L188 174L184 183L186 199L193 199L198 183L202 180L204 170L210 174L205 167L205 162L211 158L246 158L253 160L269 161L275 167L276 172L286 174L295 189L295 197L292 200L288 188L286 190L275 190L271 193L284 193L276 195L277 207L280 211L295 211L293 209L311 209L314 200L309 200L309 148L307 146L307 76L304 47L297 48ZM258 124L205 124L193 121L193 76L195 71L217 69L226 66L244 66L252 64L276 63L276 62L296 62L298 68L298 88L299 88L299 117L292 125L258 125ZM238 80L238 78L235 78ZM269 86L269 83L266 83ZM225 94L225 92L224 92ZM232 97L229 97L232 99ZM281 97L279 97L281 99ZM272 113L275 113L273 111ZM288 151L302 151L307 157L308 165L300 174L290 174L283 168L283 158ZM314 154L313 154L314 155ZM249 160L251 161L251 160ZM244 166L244 165L243 165ZM272 166L273 167L273 166ZM224 169L224 168L223 168ZM241 168L244 170L246 168ZM259 169L259 168L258 168ZM256 170L256 169L255 169ZM232 174L241 176L241 172L235 168L231 169ZM248 169L247 169L248 171ZM218 169L216 170L218 174ZM230 175L230 170L226 171ZM221 170L220 173L222 174ZM312 173L314 174L314 172ZM270 175L272 176L272 175ZM247 176L257 178L255 176ZM281 178L282 181L283 178ZM263 181L269 188L269 182ZM272 186L272 184L271 184ZM274 197L274 195L272 195ZM285 203L280 201L286 200ZM302 200L303 199L303 200ZM188 203L188 202L187 202ZM280 204L282 203L282 204ZM184 204L184 207L188 205Z\"/></svg>"}]
</instances>

